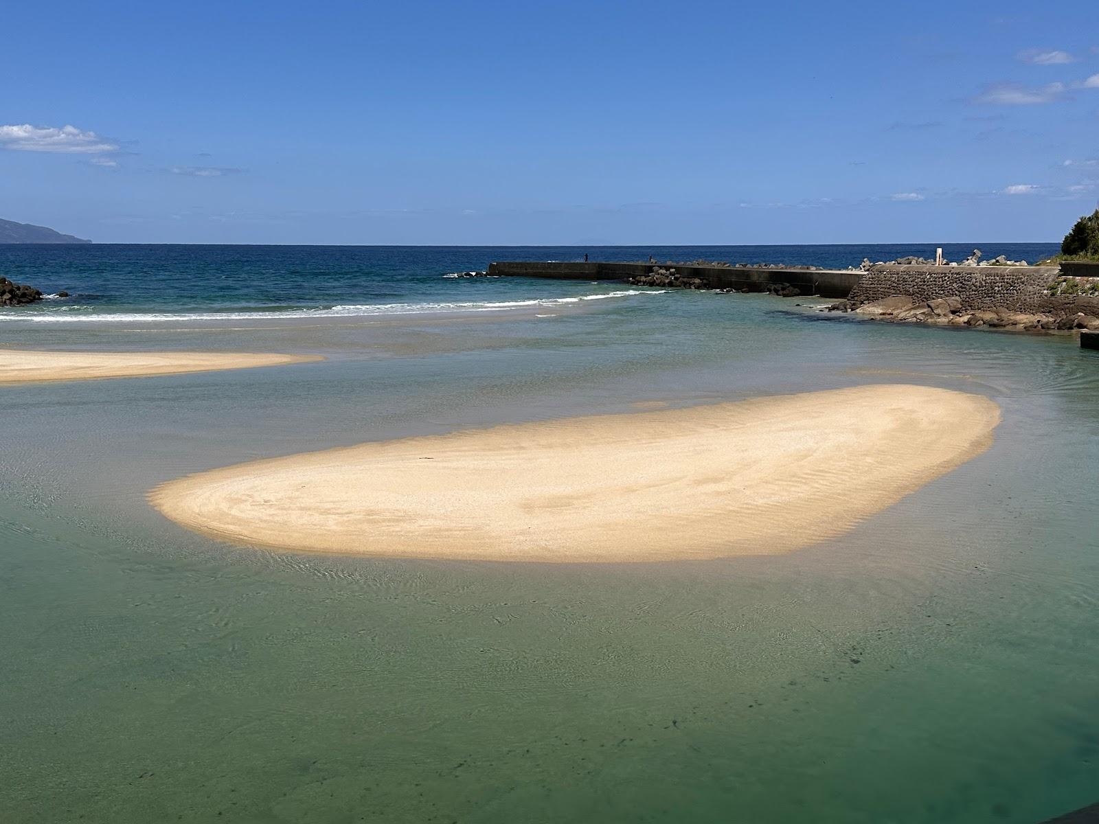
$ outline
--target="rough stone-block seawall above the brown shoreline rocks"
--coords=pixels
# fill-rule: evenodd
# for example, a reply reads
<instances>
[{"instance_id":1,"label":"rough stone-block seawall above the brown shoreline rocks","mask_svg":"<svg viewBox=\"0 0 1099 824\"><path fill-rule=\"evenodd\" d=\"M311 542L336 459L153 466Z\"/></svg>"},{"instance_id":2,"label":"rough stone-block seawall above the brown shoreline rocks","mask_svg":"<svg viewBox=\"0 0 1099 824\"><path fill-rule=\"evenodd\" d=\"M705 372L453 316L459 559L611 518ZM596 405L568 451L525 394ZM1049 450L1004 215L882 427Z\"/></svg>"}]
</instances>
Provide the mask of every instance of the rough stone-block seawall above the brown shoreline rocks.
<instances>
[{"instance_id":1,"label":"rough stone-block seawall above the brown shoreline rocks","mask_svg":"<svg viewBox=\"0 0 1099 824\"><path fill-rule=\"evenodd\" d=\"M1051 294L1058 275L1056 266L876 266L859 279L848 301L857 305L895 294L919 302L956 297L962 311L1099 316L1099 297Z\"/></svg>"}]
</instances>

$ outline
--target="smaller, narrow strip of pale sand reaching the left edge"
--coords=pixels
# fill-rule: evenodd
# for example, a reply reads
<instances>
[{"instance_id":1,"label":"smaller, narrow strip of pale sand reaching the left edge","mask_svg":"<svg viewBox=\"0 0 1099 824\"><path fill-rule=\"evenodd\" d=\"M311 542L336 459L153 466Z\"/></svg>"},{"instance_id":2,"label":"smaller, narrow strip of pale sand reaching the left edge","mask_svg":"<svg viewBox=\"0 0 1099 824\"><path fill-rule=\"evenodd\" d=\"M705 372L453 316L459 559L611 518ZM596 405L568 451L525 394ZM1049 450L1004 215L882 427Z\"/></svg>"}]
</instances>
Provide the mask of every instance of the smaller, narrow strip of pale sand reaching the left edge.
<instances>
[{"instance_id":1,"label":"smaller, narrow strip of pale sand reaching the left edge","mask_svg":"<svg viewBox=\"0 0 1099 824\"><path fill-rule=\"evenodd\" d=\"M219 352L32 352L0 349L0 383L138 378L255 366L301 364L323 358Z\"/></svg>"}]
</instances>

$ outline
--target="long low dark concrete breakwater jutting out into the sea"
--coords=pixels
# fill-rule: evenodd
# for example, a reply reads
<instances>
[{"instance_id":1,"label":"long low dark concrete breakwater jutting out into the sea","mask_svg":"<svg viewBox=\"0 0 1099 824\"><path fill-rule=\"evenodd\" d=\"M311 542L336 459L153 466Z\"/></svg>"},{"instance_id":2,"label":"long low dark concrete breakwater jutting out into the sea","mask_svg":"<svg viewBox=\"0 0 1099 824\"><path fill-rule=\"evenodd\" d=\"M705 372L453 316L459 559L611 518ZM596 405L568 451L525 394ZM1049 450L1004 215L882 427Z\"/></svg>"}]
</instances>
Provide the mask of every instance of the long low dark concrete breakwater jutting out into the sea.
<instances>
[{"instance_id":1,"label":"long low dark concrete breakwater jutting out into the sea","mask_svg":"<svg viewBox=\"0 0 1099 824\"><path fill-rule=\"evenodd\" d=\"M565 280L629 280L654 269L675 269L684 278L698 278L711 289L765 292L769 286L787 283L801 294L846 298L864 272L843 269L797 269L745 266L696 266L647 263L502 261L489 264L488 274L509 277L560 278Z\"/></svg>"}]
</instances>

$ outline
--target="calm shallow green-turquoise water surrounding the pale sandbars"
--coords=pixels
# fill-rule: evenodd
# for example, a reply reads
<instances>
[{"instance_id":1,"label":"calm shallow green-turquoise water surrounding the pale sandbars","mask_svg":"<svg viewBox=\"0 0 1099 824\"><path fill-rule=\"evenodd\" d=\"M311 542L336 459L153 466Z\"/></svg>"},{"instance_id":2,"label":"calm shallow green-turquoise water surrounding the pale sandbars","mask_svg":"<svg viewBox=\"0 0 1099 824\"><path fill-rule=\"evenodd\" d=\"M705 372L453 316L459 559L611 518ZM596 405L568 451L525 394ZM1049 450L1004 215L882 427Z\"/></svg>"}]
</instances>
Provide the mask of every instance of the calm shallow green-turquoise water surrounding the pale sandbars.
<instances>
[{"instance_id":1,"label":"calm shallow green-turquoise water surrounding the pale sandbars","mask_svg":"<svg viewBox=\"0 0 1099 824\"><path fill-rule=\"evenodd\" d=\"M1029 823L1099 800L1099 357L797 302L0 326L328 357L0 390L0 821ZM299 556L144 502L256 457L867 382L986 394L996 443L782 557Z\"/></svg>"}]
</instances>

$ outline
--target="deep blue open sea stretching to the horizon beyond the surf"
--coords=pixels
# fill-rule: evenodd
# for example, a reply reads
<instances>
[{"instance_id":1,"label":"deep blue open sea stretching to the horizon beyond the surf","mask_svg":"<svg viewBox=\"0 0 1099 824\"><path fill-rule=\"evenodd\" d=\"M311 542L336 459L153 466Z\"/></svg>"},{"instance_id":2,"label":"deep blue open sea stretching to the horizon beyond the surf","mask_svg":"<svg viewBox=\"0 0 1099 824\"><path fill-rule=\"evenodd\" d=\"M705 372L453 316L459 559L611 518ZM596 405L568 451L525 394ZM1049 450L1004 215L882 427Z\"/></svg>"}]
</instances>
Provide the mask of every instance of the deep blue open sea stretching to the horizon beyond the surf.
<instances>
[{"instance_id":1,"label":"deep blue open sea stretching to the horizon beyond the surf","mask_svg":"<svg viewBox=\"0 0 1099 824\"><path fill-rule=\"evenodd\" d=\"M974 248L1034 263L1057 244L946 244L950 260ZM933 244L826 246L189 246L0 245L0 275L67 299L0 311L0 320L124 321L247 318L253 313L375 315L503 309L517 301L576 298L590 285L470 280L493 260L696 259L731 264L857 266L864 258L934 257ZM451 277L447 277L451 276ZM607 289L597 290L606 293ZM182 315L182 316L181 316ZM215 320L215 319L207 319Z\"/></svg>"}]
</instances>

